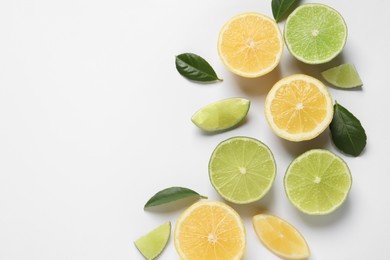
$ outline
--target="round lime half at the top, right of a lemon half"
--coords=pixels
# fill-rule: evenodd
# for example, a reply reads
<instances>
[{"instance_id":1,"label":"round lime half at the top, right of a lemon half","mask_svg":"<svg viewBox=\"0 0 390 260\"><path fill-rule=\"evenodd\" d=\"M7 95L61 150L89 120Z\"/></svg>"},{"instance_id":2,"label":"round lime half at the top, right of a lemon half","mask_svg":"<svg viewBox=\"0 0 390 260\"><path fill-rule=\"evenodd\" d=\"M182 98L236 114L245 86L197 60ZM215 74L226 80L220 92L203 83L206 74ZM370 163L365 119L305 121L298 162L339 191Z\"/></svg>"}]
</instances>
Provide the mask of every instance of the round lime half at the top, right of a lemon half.
<instances>
[{"instance_id":1,"label":"round lime half at the top, right of a lemon half","mask_svg":"<svg viewBox=\"0 0 390 260\"><path fill-rule=\"evenodd\" d=\"M335 58L347 41L347 25L333 8L304 4L287 18L284 38L290 53L308 64L326 63Z\"/></svg>"}]
</instances>

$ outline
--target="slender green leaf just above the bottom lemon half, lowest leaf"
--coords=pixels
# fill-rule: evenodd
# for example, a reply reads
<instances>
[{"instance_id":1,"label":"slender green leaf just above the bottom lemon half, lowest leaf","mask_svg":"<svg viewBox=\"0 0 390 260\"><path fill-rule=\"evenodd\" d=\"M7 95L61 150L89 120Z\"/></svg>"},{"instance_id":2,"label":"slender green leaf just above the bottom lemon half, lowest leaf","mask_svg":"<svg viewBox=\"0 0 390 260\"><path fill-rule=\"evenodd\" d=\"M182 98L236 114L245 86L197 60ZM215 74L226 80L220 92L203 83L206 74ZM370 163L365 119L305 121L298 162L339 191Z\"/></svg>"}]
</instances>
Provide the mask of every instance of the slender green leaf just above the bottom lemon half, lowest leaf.
<instances>
[{"instance_id":1,"label":"slender green leaf just above the bottom lemon half, lowest leaf","mask_svg":"<svg viewBox=\"0 0 390 260\"><path fill-rule=\"evenodd\" d=\"M146 202L144 208L146 209L186 198L207 199L206 196L202 196L196 191L190 190L188 188L171 187L157 192L148 200L148 202Z\"/></svg>"}]
</instances>

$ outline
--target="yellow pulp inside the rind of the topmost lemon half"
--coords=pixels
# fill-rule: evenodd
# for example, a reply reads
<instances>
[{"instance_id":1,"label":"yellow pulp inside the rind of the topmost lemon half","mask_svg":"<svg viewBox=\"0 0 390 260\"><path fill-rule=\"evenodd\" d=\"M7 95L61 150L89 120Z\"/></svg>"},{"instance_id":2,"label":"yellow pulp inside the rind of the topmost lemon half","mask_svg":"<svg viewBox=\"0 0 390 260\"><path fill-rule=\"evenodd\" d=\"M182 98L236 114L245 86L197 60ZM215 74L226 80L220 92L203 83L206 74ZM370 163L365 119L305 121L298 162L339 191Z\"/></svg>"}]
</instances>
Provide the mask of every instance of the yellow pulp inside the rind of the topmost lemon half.
<instances>
[{"instance_id":1,"label":"yellow pulp inside the rind of the topmost lemon half","mask_svg":"<svg viewBox=\"0 0 390 260\"><path fill-rule=\"evenodd\" d=\"M255 15L237 18L223 32L221 52L231 67L257 73L277 62L280 32L268 19Z\"/></svg>"}]
</instances>

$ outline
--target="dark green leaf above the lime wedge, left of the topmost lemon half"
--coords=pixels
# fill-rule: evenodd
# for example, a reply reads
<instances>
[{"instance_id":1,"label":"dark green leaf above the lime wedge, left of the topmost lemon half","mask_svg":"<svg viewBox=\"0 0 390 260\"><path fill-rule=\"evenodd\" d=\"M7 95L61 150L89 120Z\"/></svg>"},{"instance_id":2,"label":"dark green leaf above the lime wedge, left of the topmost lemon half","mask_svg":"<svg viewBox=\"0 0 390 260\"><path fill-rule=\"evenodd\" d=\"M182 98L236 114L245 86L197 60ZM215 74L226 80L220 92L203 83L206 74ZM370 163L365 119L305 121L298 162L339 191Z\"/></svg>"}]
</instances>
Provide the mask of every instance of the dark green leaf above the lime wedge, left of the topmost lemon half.
<instances>
[{"instance_id":1,"label":"dark green leaf above the lime wedge, left of the topmost lemon half","mask_svg":"<svg viewBox=\"0 0 390 260\"><path fill-rule=\"evenodd\" d=\"M190 80L200 82L222 81L205 59L193 53L177 55L176 69L183 77Z\"/></svg>"}]
</instances>

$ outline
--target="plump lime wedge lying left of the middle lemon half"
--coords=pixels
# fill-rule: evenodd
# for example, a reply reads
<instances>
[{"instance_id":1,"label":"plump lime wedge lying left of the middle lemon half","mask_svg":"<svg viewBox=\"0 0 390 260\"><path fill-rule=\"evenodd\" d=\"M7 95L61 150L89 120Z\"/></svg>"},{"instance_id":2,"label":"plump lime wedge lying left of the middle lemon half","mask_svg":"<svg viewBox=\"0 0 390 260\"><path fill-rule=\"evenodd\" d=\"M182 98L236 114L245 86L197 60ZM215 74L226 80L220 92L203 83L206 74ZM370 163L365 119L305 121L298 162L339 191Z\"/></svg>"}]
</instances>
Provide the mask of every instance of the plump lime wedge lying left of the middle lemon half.
<instances>
[{"instance_id":1,"label":"plump lime wedge lying left of the middle lemon half","mask_svg":"<svg viewBox=\"0 0 390 260\"><path fill-rule=\"evenodd\" d=\"M245 98L228 98L201 108L191 120L206 132L223 131L238 125L248 114L249 106Z\"/></svg>"}]
</instances>

